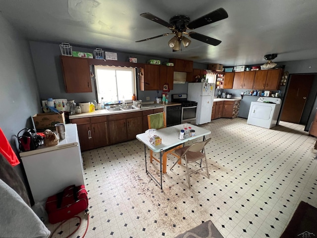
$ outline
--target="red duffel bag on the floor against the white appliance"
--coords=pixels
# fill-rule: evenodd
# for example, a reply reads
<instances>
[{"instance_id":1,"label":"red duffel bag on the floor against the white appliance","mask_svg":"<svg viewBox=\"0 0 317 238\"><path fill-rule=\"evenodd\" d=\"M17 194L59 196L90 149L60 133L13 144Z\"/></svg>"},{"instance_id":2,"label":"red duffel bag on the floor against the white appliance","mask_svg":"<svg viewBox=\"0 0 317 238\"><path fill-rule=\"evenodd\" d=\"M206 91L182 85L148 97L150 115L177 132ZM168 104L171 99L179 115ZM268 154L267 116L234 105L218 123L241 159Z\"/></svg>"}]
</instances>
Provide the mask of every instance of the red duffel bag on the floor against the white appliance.
<instances>
[{"instance_id":1,"label":"red duffel bag on the floor against the white appliance","mask_svg":"<svg viewBox=\"0 0 317 238\"><path fill-rule=\"evenodd\" d=\"M49 215L49 222L57 222L69 219L88 208L88 197L85 185L66 187L48 198L45 209Z\"/></svg>"}]
</instances>

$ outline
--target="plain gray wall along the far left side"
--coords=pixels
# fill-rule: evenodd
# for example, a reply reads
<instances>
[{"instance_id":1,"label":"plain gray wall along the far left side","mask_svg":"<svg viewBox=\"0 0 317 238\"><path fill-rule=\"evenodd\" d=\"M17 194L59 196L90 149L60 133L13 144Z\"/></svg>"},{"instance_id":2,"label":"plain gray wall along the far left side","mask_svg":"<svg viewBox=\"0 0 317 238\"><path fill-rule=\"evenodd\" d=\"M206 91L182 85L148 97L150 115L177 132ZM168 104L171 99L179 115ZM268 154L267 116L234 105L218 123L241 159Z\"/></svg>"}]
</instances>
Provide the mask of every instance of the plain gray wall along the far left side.
<instances>
[{"instance_id":1,"label":"plain gray wall along the far left side","mask_svg":"<svg viewBox=\"0 0 317 238\"><path fill-rule=\"evenodd\" d=\"M41 112L39 88L28 42L1 14L0 32L0 127L18 155L14 135L31 127L31 116ZM22 165L14 169L23 179Z\"/></svg>"}]
</instances>

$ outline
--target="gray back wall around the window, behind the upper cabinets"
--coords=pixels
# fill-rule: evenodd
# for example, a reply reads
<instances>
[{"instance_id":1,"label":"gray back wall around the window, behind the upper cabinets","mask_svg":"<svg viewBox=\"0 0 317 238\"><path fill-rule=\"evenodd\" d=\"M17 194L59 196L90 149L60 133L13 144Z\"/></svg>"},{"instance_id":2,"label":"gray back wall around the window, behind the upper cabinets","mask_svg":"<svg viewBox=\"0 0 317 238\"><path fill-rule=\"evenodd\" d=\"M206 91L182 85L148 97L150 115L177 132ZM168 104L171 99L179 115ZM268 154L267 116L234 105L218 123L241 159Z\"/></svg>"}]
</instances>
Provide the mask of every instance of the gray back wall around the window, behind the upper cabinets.
<instances>
[{"instance_id":1,"label":"gray back wall around the window, behind the upper cabinets","mask_svg":"<svg viewBox=\"0 0 317 238\"><path fill-rule=\"evenodd\" d=\"M71 43L70 43L71 45ZM79 102L91 102L96 100L96 92L93 87L92 93L66 93L64 88L64 81L62 76L62 70L60 65L59 56L60 49L59 44L52 43L43 43L43 42L30 42L34 67L36 71L37 81L40 90L41 100L47 100L48 98L66 98L68 100L75 100L76 103ZM103 49L109 51L107 49ZM74 47L73 51L80 52L90 52L93 53L94 49L83 48L83 47ZM128 57L131 57L131 54L117 53L118 61L126 61ZM153 59L149 56L140 56L133 55L138 59L139 63L146 63L148 60ZM161 60L161 62L166 62L168 59L164 58L155 58ZM194 67L205 69L207 64L195 63ZM93 82L94 85L94 82ZM150 97L149 101L155 101L155 98L159 95L161 96L162 91L140 91L139 86L137 92L137 98L142 101L147 101L146 97ZM171 90L168 94L178 94L178 93L187 93L187 83L185 84L174 84L174 89ZM132 96L132 95L131 95ZM40 105L40 100L39 100Z\"/></svg>"}]
</instances>

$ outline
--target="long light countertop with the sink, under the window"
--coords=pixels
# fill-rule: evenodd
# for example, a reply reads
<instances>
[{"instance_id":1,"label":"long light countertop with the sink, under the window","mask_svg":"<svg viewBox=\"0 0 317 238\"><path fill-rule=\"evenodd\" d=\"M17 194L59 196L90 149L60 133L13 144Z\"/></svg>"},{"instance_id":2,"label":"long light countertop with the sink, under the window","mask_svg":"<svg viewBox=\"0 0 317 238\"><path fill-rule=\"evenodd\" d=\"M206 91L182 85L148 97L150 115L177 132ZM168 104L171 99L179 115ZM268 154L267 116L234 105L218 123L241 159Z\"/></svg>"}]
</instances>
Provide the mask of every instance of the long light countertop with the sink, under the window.
<instances>
[{"instance_id":1,"label":"long light countertop with the sink, under the window","mask_svg":"<svg viewBox=\"0 0 317 238\"><path fill-rule=\"evenodd\" d=\"M171 106L171 105L168 105L168 106ZM114 112L109 112L106 109L102 109L102 110L96 110L95 112L92 112L92 113L82 113L82 114L71 115L71 116L69 116L69 119L90 118L90 117L98 117L98 116L106 116L106 115L122 114L122 113L132 113L132 112L134 113L134 112L146 111L146 110L151 110L151 109L159 109L159 108L164 108L164 105L162 105L162 104L145 104L145 105L142 105L142 107L140 109L134 108L134 109L129 109L129 110L114 111Z\"/></svg>"}]
</instances>

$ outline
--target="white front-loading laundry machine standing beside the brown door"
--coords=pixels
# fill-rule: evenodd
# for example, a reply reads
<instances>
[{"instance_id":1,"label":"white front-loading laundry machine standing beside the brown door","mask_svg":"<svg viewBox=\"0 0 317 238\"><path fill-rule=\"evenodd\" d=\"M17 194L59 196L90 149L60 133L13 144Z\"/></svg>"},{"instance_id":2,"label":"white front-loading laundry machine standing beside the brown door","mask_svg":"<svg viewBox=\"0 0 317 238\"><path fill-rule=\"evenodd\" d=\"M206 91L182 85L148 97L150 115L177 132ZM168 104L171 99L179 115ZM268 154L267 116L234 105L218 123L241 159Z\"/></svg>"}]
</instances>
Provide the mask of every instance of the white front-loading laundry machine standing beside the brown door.
<instances>
[{"instance_id":1,"label":"white front-loading laundry machine standing beside the brown door","mask_svg":"<svg viewBox=\"0 0 317 238\"><path fill-rule=\"evenodd\" d=\"M247 123L272 128L276 125L280 109L280 98L260 97L257 102L251 103Z\"/></svg>"}]
</instances>

